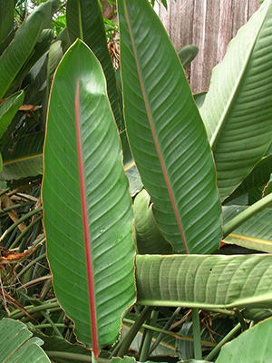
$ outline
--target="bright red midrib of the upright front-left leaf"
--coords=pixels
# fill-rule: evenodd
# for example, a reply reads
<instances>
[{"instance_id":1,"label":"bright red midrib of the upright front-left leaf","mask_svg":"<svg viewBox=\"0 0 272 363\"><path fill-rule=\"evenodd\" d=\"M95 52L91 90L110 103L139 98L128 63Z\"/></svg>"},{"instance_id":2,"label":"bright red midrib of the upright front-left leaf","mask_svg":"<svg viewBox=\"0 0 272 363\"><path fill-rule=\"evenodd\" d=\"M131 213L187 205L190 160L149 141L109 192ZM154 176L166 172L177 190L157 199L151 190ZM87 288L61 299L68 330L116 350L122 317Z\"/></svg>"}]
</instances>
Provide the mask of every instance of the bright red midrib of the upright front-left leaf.
<instances>
[{"instance_id":1,"label":"bright red midrib of the upright front-left leaf","mask_svg":"<svg viewBox=\"0 0 272 363\"><path fill-rule=\"evenodd\" d=\"M77 140L77 149L78 149L78 164L79 164L81 197L82 197L82 206L83 206L83 231L84 231L85 250L86 250L89 302L90 302L91 323L92 323L92 351L94 358L97 359L99 356L99 347L98 347L96 313L95 313L92 256L91 256L87 204L86 204L86 194L85 194L85 185L84 185L83 152L82 152L80 117L79 117L79 111L80 111L79 103L80 103L80 81L78 80L76 85L76 101L75 101L76 140Z\"/></svg>"}]
</instances>

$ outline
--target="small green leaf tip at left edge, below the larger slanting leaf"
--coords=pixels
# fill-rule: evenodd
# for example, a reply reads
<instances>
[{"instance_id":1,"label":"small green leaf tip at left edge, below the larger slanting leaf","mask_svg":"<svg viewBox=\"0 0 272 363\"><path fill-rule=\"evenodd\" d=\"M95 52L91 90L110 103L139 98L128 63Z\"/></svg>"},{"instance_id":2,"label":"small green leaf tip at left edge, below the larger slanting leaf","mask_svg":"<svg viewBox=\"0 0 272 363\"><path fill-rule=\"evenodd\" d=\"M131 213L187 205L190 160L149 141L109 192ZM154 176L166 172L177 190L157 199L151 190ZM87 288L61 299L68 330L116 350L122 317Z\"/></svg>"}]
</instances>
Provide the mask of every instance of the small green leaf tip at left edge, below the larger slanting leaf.
<instances>
[{"instance_id":1,"label":"small green leaf tip at left edge, below the larger slanting leaf","mask_svg":"<svg viewBox=\"0 0 272 363\"><path fill-rule=\"evenodd\" d=\"M18 91L14 93L0 106L0 139L4 135L4 132L12 122L17 113L19 107L24 102L24 91Z\"/></svg>"}]
</instances>

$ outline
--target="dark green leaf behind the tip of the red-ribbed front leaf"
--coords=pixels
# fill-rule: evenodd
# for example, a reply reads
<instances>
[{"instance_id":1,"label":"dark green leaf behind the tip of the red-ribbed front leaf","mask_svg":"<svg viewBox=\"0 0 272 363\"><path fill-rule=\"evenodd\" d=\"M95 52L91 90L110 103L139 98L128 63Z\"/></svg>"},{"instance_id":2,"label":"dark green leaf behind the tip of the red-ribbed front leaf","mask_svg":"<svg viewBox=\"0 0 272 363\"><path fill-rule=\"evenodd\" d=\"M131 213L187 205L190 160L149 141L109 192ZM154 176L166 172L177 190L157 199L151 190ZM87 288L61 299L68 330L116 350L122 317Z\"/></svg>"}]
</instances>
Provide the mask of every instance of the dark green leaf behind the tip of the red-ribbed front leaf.
<instances>
[{"instance_id":1,"label":"dark green leaf behind the tip of the red-ribbed front leaf","mask_svg":"<svg viewBox=\"0 0 272 363\"><path fill-rule=\"evenodd\" d=\"M71 41L74 42L77 38L82 39L102 64L112 112L118 127L122 129L117 83L98 1L68 0L66 18Z\"/></svg>"}]
</instances>

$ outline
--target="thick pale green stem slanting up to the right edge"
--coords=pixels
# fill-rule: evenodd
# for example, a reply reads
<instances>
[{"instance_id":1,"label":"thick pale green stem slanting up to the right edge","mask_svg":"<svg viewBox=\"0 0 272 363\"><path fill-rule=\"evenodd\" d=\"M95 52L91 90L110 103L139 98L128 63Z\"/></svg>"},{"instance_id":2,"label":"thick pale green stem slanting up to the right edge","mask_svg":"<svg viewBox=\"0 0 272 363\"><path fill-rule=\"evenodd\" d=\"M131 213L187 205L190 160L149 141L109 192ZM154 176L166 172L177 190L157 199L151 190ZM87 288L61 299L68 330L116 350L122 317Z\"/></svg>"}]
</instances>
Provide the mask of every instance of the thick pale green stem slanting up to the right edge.
<instances>
[{"instance_id":1,"label":"thick pale green stem slanting up to the right edge","mask_svg":"<svg viewBox=\"0 0 272 363\"><path fill-rule=\"evenodd\" d=\"M266 209L269 205L272 204L272 193L268 194L266 197L262 198L260 201L257 201L250 207L248 207L245 211L242 211L238 216L234 217L231 221L223 226L223 239L228 236L229 233L236 230L238 226L243 224L245 221L248 221L249 218L255 216L260 211Z\"/></svg>"}]
</instances>

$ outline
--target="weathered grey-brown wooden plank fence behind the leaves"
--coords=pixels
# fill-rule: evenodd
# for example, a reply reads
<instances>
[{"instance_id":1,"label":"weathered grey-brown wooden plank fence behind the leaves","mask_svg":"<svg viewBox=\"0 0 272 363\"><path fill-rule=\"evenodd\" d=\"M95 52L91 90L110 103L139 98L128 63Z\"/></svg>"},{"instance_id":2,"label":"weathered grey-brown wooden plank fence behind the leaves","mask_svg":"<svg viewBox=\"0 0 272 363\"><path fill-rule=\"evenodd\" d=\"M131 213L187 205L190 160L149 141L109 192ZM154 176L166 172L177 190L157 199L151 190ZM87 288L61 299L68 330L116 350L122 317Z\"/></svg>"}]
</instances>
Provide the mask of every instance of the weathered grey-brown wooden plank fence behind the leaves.
<instances>
[{"instance_id":1,"label":"weathered grey-brown wooden plank fence behind the leaves","mask_svg":"<svg viewBox=\"0 0 272 363\"><path fill-rule=\"evenodd\" d=\"M199 54L186 69L193 93L208 91L211 71L229 41L258 9L260 0L174 0L160 6L160 19L178 50L187 44Z\"/></svg>"}]
</instances>

